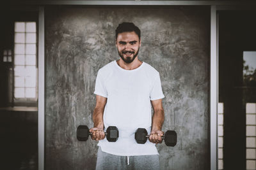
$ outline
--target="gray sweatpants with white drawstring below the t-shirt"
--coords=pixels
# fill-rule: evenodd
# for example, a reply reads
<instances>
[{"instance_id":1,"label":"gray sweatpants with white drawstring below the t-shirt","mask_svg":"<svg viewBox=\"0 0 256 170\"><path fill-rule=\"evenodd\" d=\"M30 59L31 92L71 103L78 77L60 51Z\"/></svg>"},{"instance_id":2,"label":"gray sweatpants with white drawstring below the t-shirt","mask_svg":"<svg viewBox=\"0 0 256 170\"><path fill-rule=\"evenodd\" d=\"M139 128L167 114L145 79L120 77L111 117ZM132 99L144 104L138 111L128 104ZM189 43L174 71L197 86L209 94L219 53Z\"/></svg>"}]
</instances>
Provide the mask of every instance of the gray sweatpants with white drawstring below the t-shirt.
<instances>
[{"instance_id":1,"label":"gray sweatpants with white drawstring below the t-shirt","mask_svg":"<svg viewBox=\"0 0 256 170\"><path fill-rule=\"evenodd\" d=\"M118 156L102 152L99 147L96 170L143 169L159 170L159 155Z\"/></svg>"}]
</instances>

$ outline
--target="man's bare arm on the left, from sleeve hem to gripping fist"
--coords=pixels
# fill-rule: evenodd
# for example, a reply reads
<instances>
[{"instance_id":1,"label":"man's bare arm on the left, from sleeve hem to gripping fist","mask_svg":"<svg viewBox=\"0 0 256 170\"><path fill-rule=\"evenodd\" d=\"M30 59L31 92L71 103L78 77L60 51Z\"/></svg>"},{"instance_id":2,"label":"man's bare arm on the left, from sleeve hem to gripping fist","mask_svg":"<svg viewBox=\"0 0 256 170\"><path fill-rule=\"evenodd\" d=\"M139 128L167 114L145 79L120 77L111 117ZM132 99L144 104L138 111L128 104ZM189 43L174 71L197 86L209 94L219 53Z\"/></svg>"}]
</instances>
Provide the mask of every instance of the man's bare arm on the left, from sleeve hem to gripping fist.
<instances>
[{"instance_id":1,"label":"man's bare arm on the left, from sleeve hem to gripping fist","mask_svg":"<svg viewBox=\"0 0 256 170\"><path fill-rule=\"evenodd\" d=\"M107 103L106 97L96 95L96 106L94 108L93 115L92 115L94 127L90 129L90 132L92 132L92 139L96 141L99 141L105 138L103 113L104 113L104 108L106 106L106 103Z\"/></svg>"}]
</instances>

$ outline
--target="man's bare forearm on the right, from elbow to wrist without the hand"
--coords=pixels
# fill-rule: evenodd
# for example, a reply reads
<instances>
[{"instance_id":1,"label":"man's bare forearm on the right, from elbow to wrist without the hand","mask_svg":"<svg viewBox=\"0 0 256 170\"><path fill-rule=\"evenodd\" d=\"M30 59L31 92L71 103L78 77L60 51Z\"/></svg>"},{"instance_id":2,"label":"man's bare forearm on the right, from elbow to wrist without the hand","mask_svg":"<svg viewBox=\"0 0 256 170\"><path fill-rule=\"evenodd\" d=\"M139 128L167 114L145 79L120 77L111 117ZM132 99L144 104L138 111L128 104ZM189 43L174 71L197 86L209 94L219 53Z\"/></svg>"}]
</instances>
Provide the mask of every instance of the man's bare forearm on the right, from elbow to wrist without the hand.
<instances>
[{"instance_id":1,"label":"man's bare forearm on the right, from elbow to wrist without the hand","mask_svg":"<svg viewBox=\"0 0 256 170\"><path fill-rule=\"evenodd\" d=\"M164 123L164 110L154 110L152 117L152 131L161 131Z\"/></svg>"}]
</instances>

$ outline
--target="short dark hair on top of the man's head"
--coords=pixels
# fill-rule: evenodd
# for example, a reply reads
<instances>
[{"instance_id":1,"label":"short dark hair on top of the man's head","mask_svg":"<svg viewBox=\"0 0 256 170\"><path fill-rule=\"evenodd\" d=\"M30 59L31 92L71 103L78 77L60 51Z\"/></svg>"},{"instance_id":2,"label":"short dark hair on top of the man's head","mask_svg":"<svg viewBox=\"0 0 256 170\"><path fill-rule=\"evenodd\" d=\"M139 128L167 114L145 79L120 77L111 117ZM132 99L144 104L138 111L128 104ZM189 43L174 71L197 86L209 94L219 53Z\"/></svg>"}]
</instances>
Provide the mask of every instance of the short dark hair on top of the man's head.
<instances>
[{"instance_id":1,"label":"short dark hair on top of the man's head","mask_svg":"<svg viewBox=\"0 0 256 170\"><path fill-rule=\"evenodd\" d=\"M132 22L123 22L122 24L119 24L118 27L116 28L116 38L119 33L132 32L132 31L134 31L140 39L140 29L136 25L134 25Z\"/></svg>"}]
</instances>

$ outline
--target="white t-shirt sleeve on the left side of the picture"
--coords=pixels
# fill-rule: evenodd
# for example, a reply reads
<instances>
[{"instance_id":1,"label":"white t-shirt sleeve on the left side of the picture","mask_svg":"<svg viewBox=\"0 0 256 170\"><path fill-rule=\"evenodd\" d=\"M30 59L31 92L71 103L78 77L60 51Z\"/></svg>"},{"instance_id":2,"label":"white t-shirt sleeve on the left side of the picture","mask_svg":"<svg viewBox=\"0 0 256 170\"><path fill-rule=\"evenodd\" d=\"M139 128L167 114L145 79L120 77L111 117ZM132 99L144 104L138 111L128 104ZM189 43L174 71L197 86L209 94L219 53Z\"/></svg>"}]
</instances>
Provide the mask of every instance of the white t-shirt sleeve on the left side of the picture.
<instances>
[{"instance_id":1,"label":"white t-shirt sleeve on the left side of the picture","mask_svg":"<svg viewBox=\"0 0 256 170\"><path fill-rule=\"evenodd\" d=\"M102 76L101 71L99 70L97 73L96 83L95 83L95 90L93 92L94 94L97 94L102 97L108 97L108 93L106 90L106 85L104 83L104 78Z\"/></svg>"}]
</instances>

